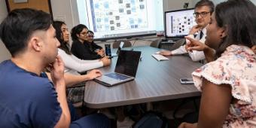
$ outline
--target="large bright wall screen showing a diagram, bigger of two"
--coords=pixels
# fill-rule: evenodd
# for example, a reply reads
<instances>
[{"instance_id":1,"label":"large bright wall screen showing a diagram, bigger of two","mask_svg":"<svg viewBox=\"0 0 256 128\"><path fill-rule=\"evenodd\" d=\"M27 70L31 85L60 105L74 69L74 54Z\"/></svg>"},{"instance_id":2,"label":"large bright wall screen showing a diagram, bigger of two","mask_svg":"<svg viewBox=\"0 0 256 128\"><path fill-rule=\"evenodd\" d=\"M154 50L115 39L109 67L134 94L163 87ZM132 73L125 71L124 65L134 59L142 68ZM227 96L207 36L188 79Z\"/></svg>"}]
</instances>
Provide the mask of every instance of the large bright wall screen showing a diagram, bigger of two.
<instances>
[{"instance_id":1,"label":"large bright wall screen showing a diagram, bigger of two","mask_svg":"<svg viewBox=\"0 0 256 128\"><path fill-rule=\"evenodd\" d=\"M79 22L95 39L156 35L163 31L163 0L77 0Z\"/></svg>"}]
</instances>

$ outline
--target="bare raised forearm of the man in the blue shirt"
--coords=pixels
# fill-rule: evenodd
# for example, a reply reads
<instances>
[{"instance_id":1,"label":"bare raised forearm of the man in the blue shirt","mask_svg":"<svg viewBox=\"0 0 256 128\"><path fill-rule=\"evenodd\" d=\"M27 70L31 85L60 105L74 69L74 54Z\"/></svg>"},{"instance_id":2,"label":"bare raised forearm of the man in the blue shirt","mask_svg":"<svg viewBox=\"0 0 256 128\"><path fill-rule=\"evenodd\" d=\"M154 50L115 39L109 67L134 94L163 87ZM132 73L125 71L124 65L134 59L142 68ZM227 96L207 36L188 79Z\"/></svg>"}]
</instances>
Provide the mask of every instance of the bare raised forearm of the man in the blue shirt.
<instances>
[{"instance_id":1,"label":"bare raised forearm of the man in the blue shirt","mask_svg":"<svg viewBox=\"0 0 256 128\"><path fill-rule=\"evenodd\" d=\"M59 127L69 127L70 124L70 112L69 112L69 105L66 99L66 84L65 80L57 81L55 83L56 93L58 95L57 100L59 102L60 107L62 108L62 116L59 120L62 120L61 126Z\"/></svg>"}]
</instances>

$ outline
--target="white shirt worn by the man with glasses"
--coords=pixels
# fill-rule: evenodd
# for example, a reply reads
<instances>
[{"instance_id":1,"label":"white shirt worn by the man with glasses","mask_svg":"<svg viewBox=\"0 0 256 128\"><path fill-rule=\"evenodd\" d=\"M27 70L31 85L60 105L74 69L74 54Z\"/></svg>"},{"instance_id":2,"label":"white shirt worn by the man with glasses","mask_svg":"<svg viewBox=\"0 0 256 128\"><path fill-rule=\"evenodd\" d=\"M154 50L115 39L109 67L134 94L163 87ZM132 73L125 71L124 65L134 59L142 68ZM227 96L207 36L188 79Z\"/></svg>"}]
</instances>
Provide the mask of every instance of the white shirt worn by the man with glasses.
<instances>
[{"instance_id":1,"label":"white shirt worn by the man with glasses","mask_svg":"<svg viewBox=\"0 0 256 128\"><path fill-rule=\"evenodd\" d=\"M203 32L203 37L200 39L200 32ZM203 28L200 32L198 32L199 34L197 34L196 36L196 40L199 40L202 43L205 43L206 41L206 28ZM172 50L172 55L181 55L187 53L187 50L185 49L185 45L182 45L181 47L178 47L175 50ZM205 54L203 53L203 51L197 51L197 50L193 50L193 52L188 52L188 55L190 56L190 58L193 61L199 61L202 59L205 59Z\"/></svg>"}]
</instances>

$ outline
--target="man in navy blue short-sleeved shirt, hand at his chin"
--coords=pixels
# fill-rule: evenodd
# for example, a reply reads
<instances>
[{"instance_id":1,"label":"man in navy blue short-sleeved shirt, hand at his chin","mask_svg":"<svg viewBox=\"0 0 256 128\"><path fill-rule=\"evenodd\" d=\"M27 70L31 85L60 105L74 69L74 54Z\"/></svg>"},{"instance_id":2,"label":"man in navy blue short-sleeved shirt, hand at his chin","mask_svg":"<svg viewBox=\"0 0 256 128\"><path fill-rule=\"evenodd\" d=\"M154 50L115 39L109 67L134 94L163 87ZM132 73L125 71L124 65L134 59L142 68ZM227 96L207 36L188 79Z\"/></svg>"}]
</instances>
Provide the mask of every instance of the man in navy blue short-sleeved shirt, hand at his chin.
<instances>
[{"instance_id":1,"label":"man in navy blue short-sleeved shirt, hand at his chin","mask_svg":"<svg viewBox=\"0 0 256 128\"><path fill-rule=\"evenodd\" d=\"M100 114L71 123L55 36L51 17L43 11L17 9L1 23L0 37L11 60L0 64L0 127L109 127ZM52 82L41 73L45 68Z\"/></svg>"}]
</instances>

